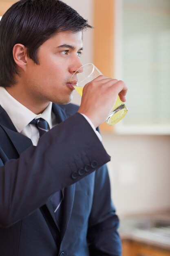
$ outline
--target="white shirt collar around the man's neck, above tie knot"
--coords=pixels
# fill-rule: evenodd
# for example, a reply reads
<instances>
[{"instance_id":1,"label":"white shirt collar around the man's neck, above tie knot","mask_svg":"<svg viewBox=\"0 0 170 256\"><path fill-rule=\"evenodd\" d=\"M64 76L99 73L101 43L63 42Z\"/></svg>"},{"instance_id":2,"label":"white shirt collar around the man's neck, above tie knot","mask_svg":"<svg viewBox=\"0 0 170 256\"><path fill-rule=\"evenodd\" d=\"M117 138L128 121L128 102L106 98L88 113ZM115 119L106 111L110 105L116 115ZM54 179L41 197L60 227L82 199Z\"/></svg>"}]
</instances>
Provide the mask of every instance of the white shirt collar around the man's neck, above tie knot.
<instances>
[{"instance_id":1,"label":"white shirt collar around the man's neck, above tie knot","mask_svg":"<svg viewBox=\"0 0 170 256\"><path fill-rule=\"evenodd\" d=\"M22 105L19 101L14 99L11 94L0 87L0 105L9 115L13 125L18 132L22 130L34 119L43 118L49 124L49 128L52 128L51 109L52 102L49 103L47 108L39 115L36 115L31 110ZM22 121L21 121L22 120Z\"/></svg>"}]
</instances>

